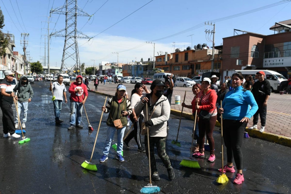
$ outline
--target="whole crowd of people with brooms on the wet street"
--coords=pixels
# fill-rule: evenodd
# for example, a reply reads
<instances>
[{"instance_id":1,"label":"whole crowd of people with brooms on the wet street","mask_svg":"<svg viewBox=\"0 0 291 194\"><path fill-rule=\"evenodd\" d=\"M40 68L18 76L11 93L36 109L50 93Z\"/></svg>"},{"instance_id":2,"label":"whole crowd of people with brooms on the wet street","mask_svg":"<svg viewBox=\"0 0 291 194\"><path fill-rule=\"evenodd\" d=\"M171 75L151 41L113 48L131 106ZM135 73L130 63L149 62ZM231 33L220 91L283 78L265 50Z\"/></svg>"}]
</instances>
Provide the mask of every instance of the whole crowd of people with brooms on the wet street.
<instances>
[{"instance_id":1,"label":"whole crowd of people with brooms on the wet street","mask_svg":"<svg viewBox=\"0 0 291 194\"><path fill-rule=\"evenodd\" d=\"M13 98L18 101L18 113L23 112L22 127L25 128L27 117L27 104L31 102L33 91L28 83L26 76L20 78L19 83L13 89L10 82L14 77L14 72L5 71L5 79L0 83L0 108L3 113L3 137L19 138L15 133L18 127L18 118L14 119L12 104ZM254 81L251 75L245 77L241 73L234 73L231 77L226 76L226 81L221 84L221 90L218 90L216 85L217 76L211 78L205 77L200 84L194 84L192 91L194 98L191 105L182 103L183 107L192 109L193 115L197 111L197 125L192 136L197 140L195 149L193 149L193 157L205 157L204 145L205 135L209 143L210 154L209 162L215 161L215 148L213 131L216 120L220 121L223 115L223 137L227 151L227 165L221 172L234 173L233 158L236 164L237 173L233 181L234 184L241 184L244 181L242 174L242 142L244 131L248 121L253 118L253 126L250 129L257 129L258 116L261 119L260 132L264 132L267 102L271 93L269 82L264 79L263 71L257 72L258 81ZM94 80L95 90L99 81L108 81L111 83L111 76L105 79L98 77ZM83 80L84 79L84 80ZM245 81L244 81L245 80ZM115 81L115 78L114 78ZM231 84L230 84L231 83ZM156 147L159 158L164 163L170 180L174 179L175 173L171 166L170 159L166 154L166 137L168 127L168 119L170 117L171 97L173 94L173 74L166 76L163 82L156 79L152 82L150 90L141 83L136 83L131 92L131 97L128 98L126 87L123 84L118 84L116 93L110 97L106 106L102 106L102 111L108 113L107 117L107 138L104 142L103 155L100 162L105 162L108 159L111 142L117 131L117 148L116 159L123 162L122 151L124 146L129 148L129 141L134 138L139 152L145 152L150 156L151 164L151 179L160 180L154 149ZM70 84L68 92L70 93L70 126L68 130L83 128L81 125L83 105L88 98L88 79L82 76L77 76L76 81ZM54 99L54 115L56 124L63 122L61 120L61 109L63 98L67 103L66 88L63 84L63 76L58 75L57 81L50 83L49 90L53 92ZM16 95L17 94L17 95ZM222 106L220 105L222 102ZM147 114L147 115L146 115ZM124 132L128 123L127 117L133 123L134 129L129 135L124 138ZM141 133L145 127L149 128L149 138L144 139L144 145L141 143ZM146 136L145 136L146 137ZM148 141L149 139L149 141ZM150 149L146 149L147 147ZM149 177L145 181L149 181Z\"/></svg>"}]
</instances>

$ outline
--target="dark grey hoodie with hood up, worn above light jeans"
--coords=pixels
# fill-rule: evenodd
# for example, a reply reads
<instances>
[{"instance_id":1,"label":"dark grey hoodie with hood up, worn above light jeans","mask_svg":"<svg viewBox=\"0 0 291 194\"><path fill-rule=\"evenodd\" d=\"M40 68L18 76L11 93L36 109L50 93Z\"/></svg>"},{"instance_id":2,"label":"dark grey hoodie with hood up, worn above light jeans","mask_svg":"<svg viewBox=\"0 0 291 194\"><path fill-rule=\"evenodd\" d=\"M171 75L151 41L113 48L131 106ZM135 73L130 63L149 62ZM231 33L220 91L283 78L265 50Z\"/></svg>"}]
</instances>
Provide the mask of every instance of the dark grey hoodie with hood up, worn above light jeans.
<instances>
[{"instance_id":1,"label":"dark grey hoodie with hood up, worn above light jeans","mask_svg":"<svg viewBox=\"0 0 291 194\"><path fill-rule=\"evenodd\" d=\"M32 96L33 96L33 90L31 88L30 83L28 82L27 77L26 77L27 79L26 85L24 86L21 85L21 81L24 77L26 76L25 75L21 76L19 82L16 84L16 86L13 89L14 92L18 90L17 97L18 97L19 102L27 102L28 99L32 99Z\"/></svg>"}]
</instances>

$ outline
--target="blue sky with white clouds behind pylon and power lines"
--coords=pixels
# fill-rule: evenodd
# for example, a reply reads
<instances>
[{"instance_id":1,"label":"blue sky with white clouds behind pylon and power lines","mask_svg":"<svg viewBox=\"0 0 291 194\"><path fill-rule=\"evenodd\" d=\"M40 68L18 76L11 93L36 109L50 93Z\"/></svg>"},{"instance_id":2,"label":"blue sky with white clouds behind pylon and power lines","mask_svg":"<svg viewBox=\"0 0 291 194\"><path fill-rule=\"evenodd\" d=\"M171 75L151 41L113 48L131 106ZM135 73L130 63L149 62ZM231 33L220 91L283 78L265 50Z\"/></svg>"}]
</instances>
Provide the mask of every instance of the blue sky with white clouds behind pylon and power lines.
<instances>
[{"instance_id":1,"label":"blue sky with white clouds behind pylon and power lines","mask_svg":"<svg viewBox=\"0 0 291 194\"><path fill-rule=\"evenodd\" d=\"M77 28L93 37L104 31L109 26L115 24L130 13L151 0L79 0L78 6L89 15L95 13L89 22L89 17L78 17ZM117 62L117 55L112 52L119 52L119 62L127 63L132 60L139 61L141 58L147 60L153 56L153 45L143 44L146 41L156 40L155 56L158 51L171 53L175 48L186 49L191 47L191 36L193 46L206 43L205 30L211 30L212 26L201 25L200 28L175 35L170 38L157 40L175 33L184 31L206 21L235 15L245 11L253 10L272 3L281 2L281 5L273 6L254 13L249 13L239 17L215 22L215 45L223 43L222 38L233 36L233 29L250 31L264 35L272 34L269 27L283 20L291 19L291 1L274 0L245 0L245 1L173 1L173 0L153 0L143 8L139 9L123 21L109 28L108 30L95 36L90 41L78 39L79 55L81 63L88 66L101 61ZM4 3L4 5L3 5ZM65 0L1 0L0 6L5 19L3 32L13 33L15 36L15 51L22 53L20 45L21 33L29 33L29 51L32 61L40 60L43 63L44 56L44 36L46 29L47 15L51 8L55 9L63 6ZM12 9L12 6L14 11ZM17 7L19 6L19 10ZM8 15L8 10L10 16ZM20 14L22 18L20 17ZM65 28L65 16L52 14L50 28L51 31L58 31ZM10 18L11 17L11 18ZM18 18L18 20L17 20ZM22 22L23 20L23 22ZM53 23L53 22L56 22ZM24 28L25 25L25 28ZM52 30L54 29L54 30ZM42 37L42 39L41 39ZM47 42L47 41L46 41ZM135 49L131 49L136 47ZM52 37L50 44L50 65L61 66L64 38ZM125 51L131 49L129 51ZM67 62L71 66L71 61Z\"/></svg>"}]
</instances>

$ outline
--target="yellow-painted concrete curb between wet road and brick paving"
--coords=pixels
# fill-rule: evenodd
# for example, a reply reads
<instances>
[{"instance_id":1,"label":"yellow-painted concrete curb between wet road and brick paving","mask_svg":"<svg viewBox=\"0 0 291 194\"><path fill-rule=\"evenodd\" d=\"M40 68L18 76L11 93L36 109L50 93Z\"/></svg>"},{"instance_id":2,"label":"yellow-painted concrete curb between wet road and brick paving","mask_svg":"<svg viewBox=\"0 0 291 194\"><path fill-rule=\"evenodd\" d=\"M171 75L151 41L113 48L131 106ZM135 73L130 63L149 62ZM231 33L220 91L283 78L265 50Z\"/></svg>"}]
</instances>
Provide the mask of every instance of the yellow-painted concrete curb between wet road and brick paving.
<instances>
[{"instance_id":1,"label":"yellow-painted concrete curb between wet road and brick paving","mask_svg":"<svg viewBox=\"0 0 291 194\"><path fill-rule=\"evenodd\" d=\"M103 93L103 92L91 91L91 90L88 90L88 91L89 92L93 92L95 94L103 95L103 96L109 96L109 97L113 96L113 95L106 94L106 93ZM175 109L171 109L171 114L180 117L181 116L181 111L177 111ZM182 117L186 118L186 119L189 119L189 120L194 120L194 116L192 114L190 114L190 113L182 113ZM221 125L220 125L220 123L218 121L216 121L215 126L216 127L221 127ZM270 142L274 142L274 143L278 143L278 144L281 144L281 145L285 145L285 146L291 147L291 138L289 138L289 137L280 136L280 135L277 135L277 134L271 134L271 133L268 133L268 132L261 133L257 129L251 130L251 129L246 128L246 132L248 132L249 136L251 136L251 137L260 138L262 140L266 140L266 141L270 141Z\"/></svg>"}]
</instances>

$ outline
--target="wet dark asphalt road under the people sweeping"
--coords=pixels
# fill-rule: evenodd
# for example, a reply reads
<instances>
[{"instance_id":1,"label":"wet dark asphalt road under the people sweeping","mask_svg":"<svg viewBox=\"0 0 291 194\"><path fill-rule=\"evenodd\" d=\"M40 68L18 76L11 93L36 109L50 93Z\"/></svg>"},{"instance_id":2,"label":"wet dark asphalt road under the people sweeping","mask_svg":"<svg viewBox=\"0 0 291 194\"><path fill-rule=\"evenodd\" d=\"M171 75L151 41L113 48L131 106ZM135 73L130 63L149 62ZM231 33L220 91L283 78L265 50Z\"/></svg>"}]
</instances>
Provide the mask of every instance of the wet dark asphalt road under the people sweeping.
<instances>
[{"instance_id":1,"label":"wet dark asphalt road under the people sweeping","mask_svg":"<svg viewBox=\"0 0 291 194\"><path fill-rule=\"evenodd\" d=\"M145 153L137 151L134 140L130 141L129 149L124 149L125 162L116 160L116 152L110 149L109 159L99 163L106 138L107 114L102 119L92 160L98 170L92 172L81 167L81 163L91 156L104 96L89 93L85 107L95 130L88 136L84 111L84 129L67 130L69 103L63 103L61 119L64 122L56 125L49 82L35 82L32 88L34 97L29 103L26 123L26 136L31 140L20 145L18 140L3 138L0 125L1 194L139 193L148 184L143 181L148 175L148 159ZM67 95L69 98L70 95ZM216 160L207 162L209 152L205 152L205 159L198 159L201 169L192 169L181 167L179 163L190 156L193 121L182 119L178 140L181 147L171 144L177 135L179 118L171 115L169 123L166 152L174 168L175 179L168 179L166 168L156 154L161 180L153 184L161 188L160 193L291 193L290 147L244 138L244 183L234 185L234 174L227 173L230 181L219 185L215 182L220 174L217 169L221 167L221 135L218 129L214 131ZM116 140L116 136L114 138ZM226 159L226 150L224 153Z\"/></svg>"}]
</instances>

